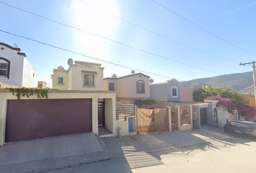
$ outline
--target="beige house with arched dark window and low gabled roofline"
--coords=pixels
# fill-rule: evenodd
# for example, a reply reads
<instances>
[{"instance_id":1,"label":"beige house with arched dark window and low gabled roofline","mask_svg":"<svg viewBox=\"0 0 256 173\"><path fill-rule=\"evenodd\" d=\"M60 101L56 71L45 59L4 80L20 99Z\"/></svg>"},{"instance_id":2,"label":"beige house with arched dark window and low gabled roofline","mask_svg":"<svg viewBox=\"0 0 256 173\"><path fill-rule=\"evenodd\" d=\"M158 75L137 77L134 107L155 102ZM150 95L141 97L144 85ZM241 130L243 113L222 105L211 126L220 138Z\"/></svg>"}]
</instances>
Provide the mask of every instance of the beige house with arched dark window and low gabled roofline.
<instances>
[{"instance_id":1,"label":"beige house with arched dark window and low gabled roofline","mask_svg":"<svg viewBox=\"0 0 256 173\"><path fill-rule=\"evenodd\" d=\"M116 101L136 102L141 105L142 99L150 97L150 76L142 73L103 79L103 90L116 91Z\"/></svg>"}]
</instances>

